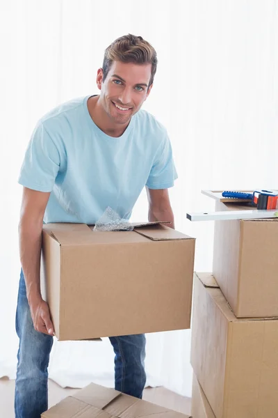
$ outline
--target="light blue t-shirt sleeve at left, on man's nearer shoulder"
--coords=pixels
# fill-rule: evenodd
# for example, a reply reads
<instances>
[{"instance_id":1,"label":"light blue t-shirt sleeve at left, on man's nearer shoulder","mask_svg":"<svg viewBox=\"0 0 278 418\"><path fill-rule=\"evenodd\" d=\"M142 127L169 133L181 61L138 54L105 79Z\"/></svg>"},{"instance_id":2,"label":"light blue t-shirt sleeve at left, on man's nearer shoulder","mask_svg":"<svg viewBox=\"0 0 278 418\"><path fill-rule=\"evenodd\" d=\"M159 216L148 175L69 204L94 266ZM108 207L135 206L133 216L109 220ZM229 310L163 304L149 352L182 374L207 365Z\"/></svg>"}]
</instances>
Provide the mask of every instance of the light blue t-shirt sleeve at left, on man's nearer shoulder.
<instances>
[{"instance_id":1,"label":"light blue t-shirt sleeve at left, on man's nearer shoulder","mask_svg":"<svg viewBox=\"0 0 278 418\"><path fill-rule=\"evenodd\" d=\"M18 183L39 192L51 192L60 169L60 155L53 139L42 123L33 131Z\"/></svg>"}]
</instances>

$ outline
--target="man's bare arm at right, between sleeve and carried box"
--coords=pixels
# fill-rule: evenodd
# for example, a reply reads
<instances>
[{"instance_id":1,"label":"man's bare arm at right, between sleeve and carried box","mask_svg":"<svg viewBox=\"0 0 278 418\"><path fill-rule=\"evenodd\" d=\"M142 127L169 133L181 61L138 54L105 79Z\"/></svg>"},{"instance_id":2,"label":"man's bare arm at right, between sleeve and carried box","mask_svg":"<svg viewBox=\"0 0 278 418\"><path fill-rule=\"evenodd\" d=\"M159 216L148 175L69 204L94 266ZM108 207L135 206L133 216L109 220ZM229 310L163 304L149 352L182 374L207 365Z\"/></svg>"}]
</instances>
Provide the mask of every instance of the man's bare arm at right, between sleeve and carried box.
<instances>
[{"instance_id":1,"label":"man's bare arm at right, between sleeve and carried box","mask_svg":"<svg viewBox=\"0 0 278 418\"><path fill-rule=\"evenodd\" d=\"M147 189L149 201L149 222L169 221L174 229L174 214L171 208L168 189Z\"/></svg>"}]
</instances>

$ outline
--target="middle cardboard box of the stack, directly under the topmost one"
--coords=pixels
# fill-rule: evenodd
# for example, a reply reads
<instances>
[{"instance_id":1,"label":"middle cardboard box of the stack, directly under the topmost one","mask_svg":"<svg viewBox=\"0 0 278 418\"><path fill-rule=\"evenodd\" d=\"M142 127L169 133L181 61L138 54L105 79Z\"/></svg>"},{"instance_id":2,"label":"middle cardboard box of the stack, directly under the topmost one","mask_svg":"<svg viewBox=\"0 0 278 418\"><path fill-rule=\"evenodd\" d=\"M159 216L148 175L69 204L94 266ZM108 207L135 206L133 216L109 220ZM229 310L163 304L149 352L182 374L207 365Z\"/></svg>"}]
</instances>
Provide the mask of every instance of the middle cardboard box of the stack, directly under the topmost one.
<instances>
[{"instance_id":1,"label":"middle cardboard box of the stack, directly under the topmost one","mask_svg":"<svg viewBox=\"0 0 278 418\"><path fill-rule=\"evenodd\" d=\"M240 319L195 275L191 364L216 418L277 418L278 320Z\"/></svg>"}]
</instances>

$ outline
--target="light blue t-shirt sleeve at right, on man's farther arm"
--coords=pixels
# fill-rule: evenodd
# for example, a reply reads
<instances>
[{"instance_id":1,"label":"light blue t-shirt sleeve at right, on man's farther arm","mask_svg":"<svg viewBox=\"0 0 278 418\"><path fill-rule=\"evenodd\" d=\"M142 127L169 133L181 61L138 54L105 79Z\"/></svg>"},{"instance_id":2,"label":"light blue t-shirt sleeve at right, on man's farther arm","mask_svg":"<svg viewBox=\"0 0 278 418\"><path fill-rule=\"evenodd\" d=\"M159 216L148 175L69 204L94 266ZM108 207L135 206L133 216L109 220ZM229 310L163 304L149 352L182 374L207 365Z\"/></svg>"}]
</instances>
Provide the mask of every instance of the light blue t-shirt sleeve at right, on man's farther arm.
<instances>
[{"instance_id":1,"label":"light blue t-shirt sleeve at right, on man's farther arm","mask_svg":"<svg viewBox=\"0 0 278 418\"><path fill-rule=\"evenodd\" d=\"M177 170L172 156L172 146L170 139L166 135L156 152L154 164L146 185L149 189L167 189L168 187L173 187L174 180L177 178Z\"/></svg>"}]
</instances>

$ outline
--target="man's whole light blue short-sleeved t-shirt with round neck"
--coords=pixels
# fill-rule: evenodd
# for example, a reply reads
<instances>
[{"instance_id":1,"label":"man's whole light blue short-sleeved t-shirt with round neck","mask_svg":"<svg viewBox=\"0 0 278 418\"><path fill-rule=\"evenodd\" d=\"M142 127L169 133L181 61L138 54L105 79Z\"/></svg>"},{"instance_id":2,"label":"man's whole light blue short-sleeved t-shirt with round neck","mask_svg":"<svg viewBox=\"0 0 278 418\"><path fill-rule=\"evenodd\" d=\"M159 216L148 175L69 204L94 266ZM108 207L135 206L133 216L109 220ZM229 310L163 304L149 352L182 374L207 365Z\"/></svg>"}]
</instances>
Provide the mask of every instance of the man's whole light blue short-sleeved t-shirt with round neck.
<instances>
[{"instance_id":1,"label":"man's whole light blue short-sleeved t-shirt with round neck","mask_svg":"<svg viewBox=\"0 0 278 418\"><path fill-rule=\"evenodd\" d=\"M95 224L108 206L129 219L143 187L166 189L177 173L161 123L147 111L109 137L90 117L90 96L71 100L40 119L28 144L19 184L51 192L44 223Z\"/></svg>"}]
</instances>

